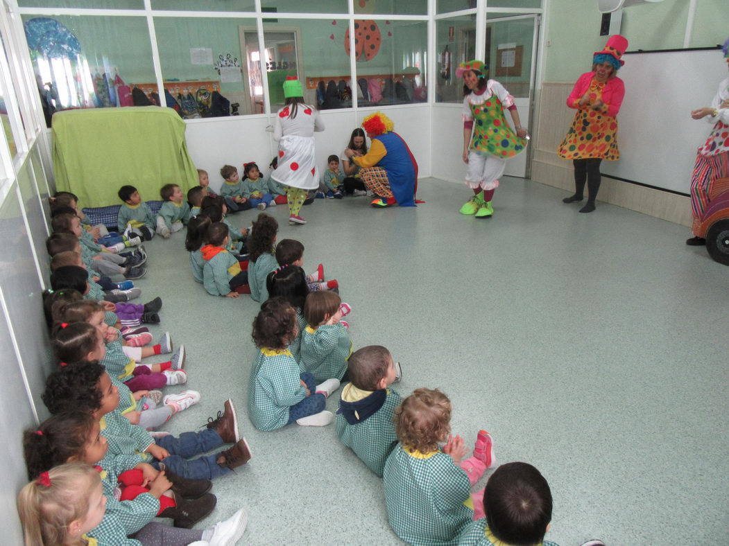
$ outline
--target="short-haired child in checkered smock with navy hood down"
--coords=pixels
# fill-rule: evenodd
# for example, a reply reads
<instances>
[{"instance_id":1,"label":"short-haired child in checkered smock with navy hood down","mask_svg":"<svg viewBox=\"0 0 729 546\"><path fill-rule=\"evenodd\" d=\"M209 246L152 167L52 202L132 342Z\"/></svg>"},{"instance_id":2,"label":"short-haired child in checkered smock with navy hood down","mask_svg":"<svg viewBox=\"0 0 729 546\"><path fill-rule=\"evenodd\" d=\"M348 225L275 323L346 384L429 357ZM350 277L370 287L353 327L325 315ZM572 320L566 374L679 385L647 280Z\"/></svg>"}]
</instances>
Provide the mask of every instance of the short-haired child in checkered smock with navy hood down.
<instances>
[{"instance_id":1,"label":"short-haired child in checkered smock with navy hood down","mask_svg":"<svg viewBox=\"0 0 729 546\"><path fill-rule=\"evenodd\" d=\"M397 446L392 422L402 399L388 387L399 381L399 363L381 345L352 353L348 361L351 383L342 390L337 411L337 435L375 474L382 477L385 461Z\"/></svg>"}]
</instances>

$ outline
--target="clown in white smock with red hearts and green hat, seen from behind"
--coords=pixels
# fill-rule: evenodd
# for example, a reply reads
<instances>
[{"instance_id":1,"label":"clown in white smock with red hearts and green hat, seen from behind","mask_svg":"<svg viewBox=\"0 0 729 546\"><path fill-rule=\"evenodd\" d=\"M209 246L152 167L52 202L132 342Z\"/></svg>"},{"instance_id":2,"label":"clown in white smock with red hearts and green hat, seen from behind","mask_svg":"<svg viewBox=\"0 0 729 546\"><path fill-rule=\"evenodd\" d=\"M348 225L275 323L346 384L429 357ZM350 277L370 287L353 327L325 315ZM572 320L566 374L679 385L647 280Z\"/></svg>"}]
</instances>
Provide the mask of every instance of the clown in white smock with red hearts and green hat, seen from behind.
<instances>
[{"instance_id":1,"label":"clown in white smock with red hearts and green hat, seen from behind","mask_svg":"<svg viewBox=\"0 0 729 546\"><path fill-rule=\"evenodd\" d=\"M314 154L314 132L323 131L324 123L313 106L304 103L301 82L289 76L284 82L284 108L276 114L273 138L278 141L278 167L271 178L286 187L289 223L306 223L299 211L307 191L319 187L319 170Z\"/></svg>"}]
</instances>

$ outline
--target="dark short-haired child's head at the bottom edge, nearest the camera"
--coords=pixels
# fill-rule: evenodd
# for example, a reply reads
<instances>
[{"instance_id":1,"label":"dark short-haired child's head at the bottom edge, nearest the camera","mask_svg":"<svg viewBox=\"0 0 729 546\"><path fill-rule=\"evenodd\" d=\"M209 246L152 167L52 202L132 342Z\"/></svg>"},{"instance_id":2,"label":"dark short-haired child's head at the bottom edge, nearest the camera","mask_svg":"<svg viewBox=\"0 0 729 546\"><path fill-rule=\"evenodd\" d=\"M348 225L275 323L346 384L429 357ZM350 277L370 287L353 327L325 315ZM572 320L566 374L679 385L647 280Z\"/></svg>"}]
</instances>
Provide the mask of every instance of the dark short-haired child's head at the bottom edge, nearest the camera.
<instances>
[{"instance_id":1,"label":"dark short-haired child's head at the bottom edge, nearest the camera","mask_svg":"<svg viewBox=\"0 0 729 546\"><path fill-rule=\"evenodd\" d=\"M483 507L494 537L515 546L536 546L552 521L552 492L531 464L510 462L488 478Z\"/></svg>"}]
</instances>

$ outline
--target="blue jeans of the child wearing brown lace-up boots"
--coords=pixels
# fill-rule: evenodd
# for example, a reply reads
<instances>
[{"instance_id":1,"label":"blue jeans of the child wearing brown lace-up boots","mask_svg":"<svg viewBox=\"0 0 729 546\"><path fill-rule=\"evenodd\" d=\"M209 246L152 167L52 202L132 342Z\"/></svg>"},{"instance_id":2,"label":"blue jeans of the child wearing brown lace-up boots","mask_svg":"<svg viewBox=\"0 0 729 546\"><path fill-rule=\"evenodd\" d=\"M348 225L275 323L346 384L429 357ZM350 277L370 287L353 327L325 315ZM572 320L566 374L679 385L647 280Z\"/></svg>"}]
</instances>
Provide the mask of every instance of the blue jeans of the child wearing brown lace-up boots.
<instances>
[{"instance_id":1,"label":"blue jeans of the child wearing brown lace-up boots","mask_svg":"<svg viewBox=\"0 0 729 546\"><path fill-rule=\"evenodd\" d=\"M210 480L230 472L229 468L217 464L217 454L187 460L189 457L222 446L222 438L212 429L201 432L182 432L179 438L175 438L173 435L163 436L155 438L155 443L170 452L170 456L162 459L165 466L183 478Z\"/></svg>"}]
</instances>

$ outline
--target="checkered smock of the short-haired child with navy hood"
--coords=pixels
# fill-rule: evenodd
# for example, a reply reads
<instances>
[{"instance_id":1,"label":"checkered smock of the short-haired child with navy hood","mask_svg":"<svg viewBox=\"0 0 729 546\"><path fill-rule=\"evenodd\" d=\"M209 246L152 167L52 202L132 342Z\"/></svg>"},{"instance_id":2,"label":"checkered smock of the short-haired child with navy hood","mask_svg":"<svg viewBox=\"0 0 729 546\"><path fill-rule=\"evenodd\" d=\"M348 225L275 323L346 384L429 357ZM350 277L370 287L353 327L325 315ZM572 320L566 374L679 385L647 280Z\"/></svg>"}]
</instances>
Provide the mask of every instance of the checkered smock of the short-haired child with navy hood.
<instances>
[{"instance_id":1,"label":"checkered smock of the short-haired child with navy hood","mask_svg":"<svg viewBox=\"0 0 729 546\"><path fill-rule=\"evenodd\" d=\"M359 460L382 478L385 461L397 446L397 434L392 422L395 408L402 398L394 389L387 389L382 407L362 421L349 424L341 414L337 414L337 435L341 443L351 448Z\"/></svg>"}]
</instances>

